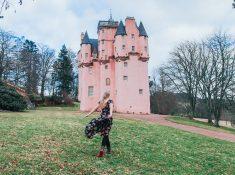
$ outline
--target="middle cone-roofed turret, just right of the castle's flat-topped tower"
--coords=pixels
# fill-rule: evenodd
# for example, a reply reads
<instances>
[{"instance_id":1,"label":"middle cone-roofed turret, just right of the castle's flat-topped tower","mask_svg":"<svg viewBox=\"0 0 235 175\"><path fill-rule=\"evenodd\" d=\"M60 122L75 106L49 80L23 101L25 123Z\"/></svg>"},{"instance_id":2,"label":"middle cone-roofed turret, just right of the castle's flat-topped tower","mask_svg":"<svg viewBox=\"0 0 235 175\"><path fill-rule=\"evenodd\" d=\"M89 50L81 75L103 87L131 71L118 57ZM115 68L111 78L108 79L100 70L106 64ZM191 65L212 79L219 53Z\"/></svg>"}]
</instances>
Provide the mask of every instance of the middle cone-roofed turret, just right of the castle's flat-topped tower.
<instances>
[{"instance_id":1,"label":"middle cone-roofed turret, just right of the castle's flat-topped tower","mask_svg":"<svg viewBox=\"0 0 235 175\"><path fill-rule=\"evenodd\" d=\"M127 59L126 29L123 22L120 21L115 33L114 57L116 59Z\"/></svg>"}]
</instances>

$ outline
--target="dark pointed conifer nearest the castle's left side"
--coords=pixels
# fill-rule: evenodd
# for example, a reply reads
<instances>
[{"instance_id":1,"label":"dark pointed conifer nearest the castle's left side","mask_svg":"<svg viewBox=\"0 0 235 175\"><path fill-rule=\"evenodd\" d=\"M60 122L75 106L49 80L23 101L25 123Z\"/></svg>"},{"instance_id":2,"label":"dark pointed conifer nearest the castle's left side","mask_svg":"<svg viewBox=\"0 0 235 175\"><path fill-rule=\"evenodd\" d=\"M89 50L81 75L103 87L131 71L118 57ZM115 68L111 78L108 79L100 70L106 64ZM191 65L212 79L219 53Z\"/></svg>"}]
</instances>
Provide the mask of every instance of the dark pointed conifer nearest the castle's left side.
<instances>
[{"instance_id":1,"label":"dark pointed conifer nearest the castle's left side","mask_svg":"<svg viewBox=\"0 0 235 175\"><path fill-rule=\"evenodd\" d=\"M65 45L60 50L56 67L59 95L65 99L70 95L73 88L73 66Z\"/></svg>"}]
</instances>

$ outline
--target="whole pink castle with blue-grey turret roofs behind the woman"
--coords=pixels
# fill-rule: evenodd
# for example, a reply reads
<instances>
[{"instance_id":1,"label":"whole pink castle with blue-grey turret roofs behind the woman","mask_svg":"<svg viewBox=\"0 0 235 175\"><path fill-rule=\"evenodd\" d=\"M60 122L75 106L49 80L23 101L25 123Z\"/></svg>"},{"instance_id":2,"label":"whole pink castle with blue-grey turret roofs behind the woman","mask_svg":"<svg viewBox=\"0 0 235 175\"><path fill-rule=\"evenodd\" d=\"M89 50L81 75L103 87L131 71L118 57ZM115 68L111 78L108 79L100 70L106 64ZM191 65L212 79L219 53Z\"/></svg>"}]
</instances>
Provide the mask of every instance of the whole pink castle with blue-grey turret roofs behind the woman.
<instances>
[{"instance_id":1,"label":"whole pink castle with blue-grey turret roofs behind the woman","mask_svg":"<svg viewBox=\"0 0 235 175\"><path fill-rule=\"evenodd\" d=\"M150 113L148 35L133 17L99 21L98 39L81 34L79 60L80 109L88 111L109 91L114 111Z\"/></svg>"}]
</instances>

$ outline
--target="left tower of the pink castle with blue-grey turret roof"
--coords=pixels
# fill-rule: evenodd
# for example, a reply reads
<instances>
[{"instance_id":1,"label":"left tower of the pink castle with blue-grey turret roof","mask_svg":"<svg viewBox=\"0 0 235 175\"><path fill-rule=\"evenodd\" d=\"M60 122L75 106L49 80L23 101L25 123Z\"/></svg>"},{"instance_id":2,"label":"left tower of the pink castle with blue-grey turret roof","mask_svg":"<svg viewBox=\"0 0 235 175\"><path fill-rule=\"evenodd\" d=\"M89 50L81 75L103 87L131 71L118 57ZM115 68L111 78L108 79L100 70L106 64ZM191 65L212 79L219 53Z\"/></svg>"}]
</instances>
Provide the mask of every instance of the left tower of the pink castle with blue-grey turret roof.
<instances>
[{"instance_id":1,"label":"left tower of the pink castle with blue-grey turret roof","mask_svg":"<svg viewBox=\"0 0 235 175\"><path fill-rule=\"evenodd\" d=\"M90 39L88 33L81 35L79 60L79 100L81 110L91 110L97 104L100 93L98 60L98 40Z\"/></svg>"}]
</instances>

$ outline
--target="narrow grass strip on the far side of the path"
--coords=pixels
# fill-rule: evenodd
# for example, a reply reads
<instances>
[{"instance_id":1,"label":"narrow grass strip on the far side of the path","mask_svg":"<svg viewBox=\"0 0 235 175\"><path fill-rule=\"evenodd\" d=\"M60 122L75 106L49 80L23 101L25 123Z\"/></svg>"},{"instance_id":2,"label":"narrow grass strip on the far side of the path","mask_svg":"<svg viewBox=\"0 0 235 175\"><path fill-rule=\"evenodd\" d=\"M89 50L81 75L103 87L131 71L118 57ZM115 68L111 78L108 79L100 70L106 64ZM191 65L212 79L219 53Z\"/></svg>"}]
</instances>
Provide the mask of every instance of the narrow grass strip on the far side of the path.
<instances>
[{"instance_id":1,"label":"narrow grass strip on the far side of the path","mask_svg":"<svg viewBox=\"0 0 235 175\"><path fill-rule=\"evenodd\" d=\"M213 131L221 131L221 132L235 134L235 129L233 129L233 128L228 128L228 127L223 127L223 126L220 126L218 128L218 127L214 127L206 122L197 121L197 120L190 120L185 117L169 117L169 118L167 118L167 120L175 122L175 123L179 123L179 124L196 126L196 127L200 127L200 128L204 128L204 129L213 130Z\"/></svg>"}]
</instances>

